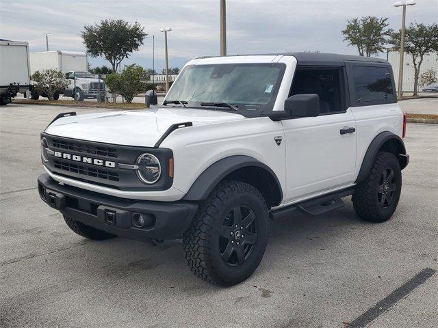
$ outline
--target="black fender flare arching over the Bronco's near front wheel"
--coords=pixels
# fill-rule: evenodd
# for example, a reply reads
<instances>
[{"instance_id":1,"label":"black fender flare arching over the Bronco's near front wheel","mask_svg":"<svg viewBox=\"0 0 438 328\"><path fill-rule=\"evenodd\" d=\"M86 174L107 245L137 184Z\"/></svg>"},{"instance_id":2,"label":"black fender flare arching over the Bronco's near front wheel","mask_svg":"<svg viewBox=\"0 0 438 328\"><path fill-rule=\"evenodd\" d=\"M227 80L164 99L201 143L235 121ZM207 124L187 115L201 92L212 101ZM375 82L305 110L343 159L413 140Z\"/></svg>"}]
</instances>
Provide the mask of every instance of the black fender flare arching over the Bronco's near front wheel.
<instances>
[{"instance_id":1,"label":"black fender flare arching over the Bronco's near front wheel","mask_svg":"<svg viewBox=\"0 0 438 328\"><path fill-rule=\"evenodd\" d=\"M277 206L283 200L283 190L276 174L257 159L245 155L229 156L207 167L196 178L183 200L207 199L222 180L238 180L252 184L266 200L268 207Z\"/></svg>"}]
</instances>

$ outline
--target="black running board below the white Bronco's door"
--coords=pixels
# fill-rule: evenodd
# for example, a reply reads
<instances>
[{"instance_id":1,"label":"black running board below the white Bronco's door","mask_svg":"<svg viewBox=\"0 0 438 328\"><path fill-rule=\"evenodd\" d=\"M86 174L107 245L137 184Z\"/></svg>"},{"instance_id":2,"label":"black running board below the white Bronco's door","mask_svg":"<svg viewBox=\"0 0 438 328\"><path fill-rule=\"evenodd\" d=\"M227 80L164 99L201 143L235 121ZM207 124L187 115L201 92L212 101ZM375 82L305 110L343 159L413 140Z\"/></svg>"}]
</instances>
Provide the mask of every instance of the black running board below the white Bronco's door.
<instances>
[{"instance_id":1,"label":"black running board below the white Bronco's door","mask_svg":"<svg viewBox=\"0 0 438 328\"><path fill-rule=\"evenodd\" d=\"M301 210L304 213L310 215L320 215L322 213L329 212L329 210L335 210L336 208L342 208L345 203L342 197L346 197L355 193L354 188L344 189L335 193L329 193L328 195L322 195L320 197L313 198L313 200L306 200L298 204L292 204L270 212L270 217L276 219L277 217L284 217L289 215L293 210Z\"/></svg>"}]
</instances>

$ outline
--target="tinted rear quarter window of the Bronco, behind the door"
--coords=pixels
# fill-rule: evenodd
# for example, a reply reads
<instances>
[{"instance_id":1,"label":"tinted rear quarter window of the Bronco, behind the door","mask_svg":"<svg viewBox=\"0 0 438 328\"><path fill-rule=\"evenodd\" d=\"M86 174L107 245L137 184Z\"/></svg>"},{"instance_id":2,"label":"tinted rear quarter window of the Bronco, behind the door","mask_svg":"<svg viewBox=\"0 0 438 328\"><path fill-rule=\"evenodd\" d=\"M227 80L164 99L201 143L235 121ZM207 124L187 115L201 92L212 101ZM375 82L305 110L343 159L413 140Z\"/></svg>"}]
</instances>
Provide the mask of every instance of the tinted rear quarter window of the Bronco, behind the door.
<instances>
[{"instance_id":1,"label":"tinted rear quarter window of the Bronco, behind the door","mask_svg":"<svg viewBox=\"0 0 438 328\"><path fill-rule=\"evenodd\" d=\"M389 68L353 66L352 71L357 102L394 100Z\"/></svg>"}]
</instances>

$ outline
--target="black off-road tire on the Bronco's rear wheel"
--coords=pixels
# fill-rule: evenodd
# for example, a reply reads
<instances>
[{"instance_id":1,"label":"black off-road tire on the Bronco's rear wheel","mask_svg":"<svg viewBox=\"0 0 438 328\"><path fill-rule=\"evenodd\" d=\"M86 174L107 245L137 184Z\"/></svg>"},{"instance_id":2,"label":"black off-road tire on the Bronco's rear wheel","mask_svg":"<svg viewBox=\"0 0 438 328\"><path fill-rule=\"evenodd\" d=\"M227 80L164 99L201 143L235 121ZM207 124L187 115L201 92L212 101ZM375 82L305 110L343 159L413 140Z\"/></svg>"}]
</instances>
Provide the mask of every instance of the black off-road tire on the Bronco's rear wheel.
<instances>
[{"instance_id":1,"label":"black off-road tire on the Bronco's rear wheel","mask_svg":"<svg viewBox=\"0 0 438 328\"><path fill-rule=\"evenodd\" d=\"M379 184L382 183L383 172L394 172L395 190L391 194L391 202L383 208L379 202ZM359 182L352 195L355 211L361 219L370 222L387 221L396 210L402 190L402 171L400 163L394 154L390 152L378 152L372 163L368 177Z\"/></svg>"}]
</instances>

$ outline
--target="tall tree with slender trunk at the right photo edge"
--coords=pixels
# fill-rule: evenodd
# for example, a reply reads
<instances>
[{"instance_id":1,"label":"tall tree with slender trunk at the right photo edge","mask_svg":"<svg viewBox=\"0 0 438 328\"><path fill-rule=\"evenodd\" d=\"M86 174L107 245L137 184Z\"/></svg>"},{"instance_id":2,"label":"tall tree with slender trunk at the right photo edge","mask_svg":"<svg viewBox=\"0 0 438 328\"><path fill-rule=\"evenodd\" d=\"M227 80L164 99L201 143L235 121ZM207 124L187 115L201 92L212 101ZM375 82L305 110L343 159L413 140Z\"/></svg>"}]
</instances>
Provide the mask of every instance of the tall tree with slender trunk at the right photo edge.
<instances>
[{"instance_id":1,"label":"tall tree with slender trunk at the right photo edge","mask_svg":"<svg viewBox=\"0 0 438 328\"><path fill-rule=\"evenodd\" d=\"M391 33L390 43L400 51L401 31ZM438 24L424 25L422 23L411 23L404 30L404 52L412 57L414 79L413 95L418 94L418 79L420 68L426 53L438 51Z\"/></svg>"}]
</instances>

